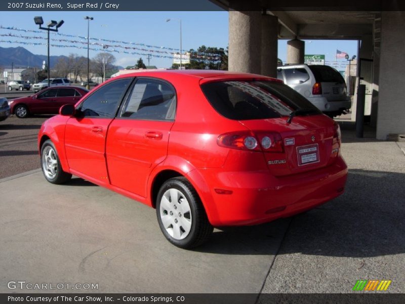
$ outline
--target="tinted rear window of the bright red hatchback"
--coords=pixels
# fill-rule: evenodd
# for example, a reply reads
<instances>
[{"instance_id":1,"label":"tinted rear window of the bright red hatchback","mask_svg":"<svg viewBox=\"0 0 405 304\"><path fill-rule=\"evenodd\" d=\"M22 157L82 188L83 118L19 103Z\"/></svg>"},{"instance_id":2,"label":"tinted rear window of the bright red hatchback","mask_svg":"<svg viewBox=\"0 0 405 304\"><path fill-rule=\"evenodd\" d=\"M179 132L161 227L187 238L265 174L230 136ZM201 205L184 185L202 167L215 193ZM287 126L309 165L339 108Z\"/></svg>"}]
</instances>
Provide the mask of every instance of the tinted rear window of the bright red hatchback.
<instances>
[{"instance_id":1,"label":"tinted rear window of the bright red hatchback","mask_svg":"<svg viewBox=\"0 0 405 304\"><path fill-rule=\"evenodd\" d=\"M289 116L298 109L320 111L289 86L274 81L221 81L201 85L215 110L232 120Z\"/></svg>"}]
</instances>

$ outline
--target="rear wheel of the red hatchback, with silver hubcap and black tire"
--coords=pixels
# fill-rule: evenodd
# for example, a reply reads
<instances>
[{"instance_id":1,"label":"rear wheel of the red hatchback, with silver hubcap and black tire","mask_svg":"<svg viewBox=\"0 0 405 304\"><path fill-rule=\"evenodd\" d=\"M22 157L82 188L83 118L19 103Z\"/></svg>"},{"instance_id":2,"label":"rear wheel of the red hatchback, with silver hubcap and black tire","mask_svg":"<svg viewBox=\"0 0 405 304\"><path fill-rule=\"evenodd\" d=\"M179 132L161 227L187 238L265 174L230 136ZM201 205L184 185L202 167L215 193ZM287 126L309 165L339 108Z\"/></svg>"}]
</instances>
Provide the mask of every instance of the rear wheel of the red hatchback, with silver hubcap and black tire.
<instances>
[{"instance_id":1,"label":"rear wheel of the red hatchback, with silver hubcap and black tire","mask_svg":"<svg viewBox=\"0 0 405 304\"><path fill-rule=\"evenodd\" d=\"M160 187L156 215L166 239L180 248L205 243L214 230L197 192L185 177L171 178Z\"/></svg>"}]
</instances>

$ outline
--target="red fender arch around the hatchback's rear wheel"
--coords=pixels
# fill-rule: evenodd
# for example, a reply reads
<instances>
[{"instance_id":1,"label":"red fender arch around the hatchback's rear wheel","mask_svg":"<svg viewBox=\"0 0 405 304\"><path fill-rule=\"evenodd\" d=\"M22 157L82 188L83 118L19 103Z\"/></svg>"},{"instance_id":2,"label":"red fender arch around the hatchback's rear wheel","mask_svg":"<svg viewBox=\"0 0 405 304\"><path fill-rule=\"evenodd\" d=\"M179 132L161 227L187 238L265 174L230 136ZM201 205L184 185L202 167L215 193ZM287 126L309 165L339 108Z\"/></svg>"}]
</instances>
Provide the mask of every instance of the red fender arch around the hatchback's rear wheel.
<instances>
[{"instance_id":1,"label":"red fender arch around the hatchback's rear wheel","mask_svg":"<svg viewBox=\"0 0 405 304\"><path fill-rule=\"evenodd\" d=\"M187 180L192 184L198 196L200 197L210 222L211 218L214 219L218 217L217 209L212 199L210 188L204 176L189 161L178 156L168 156L165 161L157 165L149 175L147 193L150 194L148 198L148 204L150 206L154 206L154 202L152 202L152 187L155 182L156 176L164 170L176 171L187 178Z\"/></svg>"}]
</instances>

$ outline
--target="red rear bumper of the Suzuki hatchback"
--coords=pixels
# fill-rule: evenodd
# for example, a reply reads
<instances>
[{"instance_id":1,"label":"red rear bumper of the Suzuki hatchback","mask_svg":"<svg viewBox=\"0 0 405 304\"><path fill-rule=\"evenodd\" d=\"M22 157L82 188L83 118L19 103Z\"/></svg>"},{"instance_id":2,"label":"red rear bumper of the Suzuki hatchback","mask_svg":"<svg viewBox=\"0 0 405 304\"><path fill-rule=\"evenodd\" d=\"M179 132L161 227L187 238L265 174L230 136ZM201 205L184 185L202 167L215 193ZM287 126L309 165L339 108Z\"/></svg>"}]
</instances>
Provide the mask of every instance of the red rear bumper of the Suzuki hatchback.
<instances>
[{"instance_id":1,"label":"red rear bumper of the Suzuki hatchback","mask_svg":"<svg viewBox=\"0 0 405 304\"><path fill-rule=\"evenodd\" d=\"M326 168L274 177L268 171L220 172L200 170L210 180L202 199L214 226L252 225L312 209L344 191L347 166L341 157ZM215 188L232 194L217 194Z\"/></svg>"}]
</instances>

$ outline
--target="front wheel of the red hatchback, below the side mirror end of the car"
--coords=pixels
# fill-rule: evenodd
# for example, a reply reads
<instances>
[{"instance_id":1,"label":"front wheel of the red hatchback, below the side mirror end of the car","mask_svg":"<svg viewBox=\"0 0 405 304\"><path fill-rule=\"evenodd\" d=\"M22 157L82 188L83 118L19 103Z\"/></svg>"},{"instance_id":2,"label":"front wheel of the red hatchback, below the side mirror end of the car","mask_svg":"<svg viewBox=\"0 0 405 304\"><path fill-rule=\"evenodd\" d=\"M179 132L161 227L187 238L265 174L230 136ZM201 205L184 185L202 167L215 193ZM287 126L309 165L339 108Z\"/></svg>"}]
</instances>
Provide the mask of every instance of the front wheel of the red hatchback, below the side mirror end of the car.
<instances>
[{"instance_id":1,"label":"front wheel of the red hatchback, below the side mirror end of the car","mask_svg":"<svg viewBox=\"0 0 405 304\"><path fill-rule=\"evenodd\" d=\"M72 177L62 170L55 145L50 139L41 147L41 168L46 180L53 184L64 183Z\"/></svg>"}]
</instances>

